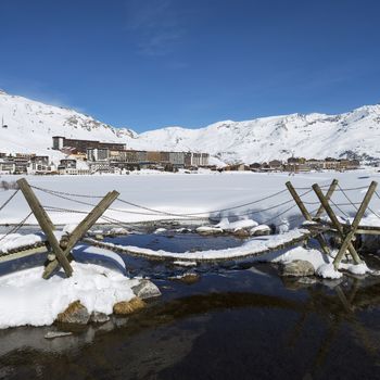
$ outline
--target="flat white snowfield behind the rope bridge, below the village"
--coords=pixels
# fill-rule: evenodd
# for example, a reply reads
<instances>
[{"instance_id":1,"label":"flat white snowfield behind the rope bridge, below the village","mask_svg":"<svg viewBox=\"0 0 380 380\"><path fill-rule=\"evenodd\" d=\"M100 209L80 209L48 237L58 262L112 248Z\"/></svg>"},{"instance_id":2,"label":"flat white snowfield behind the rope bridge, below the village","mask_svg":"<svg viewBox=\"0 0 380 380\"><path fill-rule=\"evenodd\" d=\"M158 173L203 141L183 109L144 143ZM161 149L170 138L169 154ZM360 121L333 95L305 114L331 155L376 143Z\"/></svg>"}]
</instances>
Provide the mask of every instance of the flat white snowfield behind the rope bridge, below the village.
<instances>
[{"instance_id":1,"label":"flat white snowfield behind the rope bridge, below the village","mask_svg":"<svg viewBox=\"0 0 380 380\"><path fill-rule=\"evenodd\" d=\"M20 177L1 176L0 181L15 181L17 178ZM371 180L380 179L380 173L377 173L373 168L350 173L326 172L299 174L295 176L289 176L284 173L262 174L250 172L203 172L203 174L144 174L141 172L134 173L129 176L28 176L26 178L30 185L36 187L90 197L104 195L107 191L117 190L121 193L121 200L161 212L156 213L121 201L115 201L111 206L112 210L107 211L105 215L125 223L179 218L177 215L192 214L188 216L195 219L212 216L217 219L226 217L230 221L236 219L253 219L259 224L265 224L268 219L274 218L271 223L286 224L289 218L300 215L296 206L287 212L289 207L294 205L294 202L282 204L273 210L263 210L284 203L288 200L291 201L291 197L284 186L288 180L291 180L295 188L302 188L297 191L300 194L303 194L308 191L307 189L311 189L313 183L318 182L321 186L326 186L329 185L333 178L339 180L342 188L367 187ZM281 190L284 191L275 198L254 204L246 204ZM12 194L12 191L13 190L0 190L0 205ZM73 198L79 202L76 203L38 190L35 191L43 206L65 208L67 211L88 212L91 210L91 205L84 203L96 204L99 202L99 199L67 195L67 198ZM363 200L365 192L366 189L359 189L351 190L346 193L353 202L357 203ZM332 199L334 203L345 204L341 205L340 208L347 215L351 217L355 215L355 208L347 204L349 202L341 191L337 190ZM305 194L303 200L312 203L317 202L317 198L313 191ZM216 212L242 204L245 205L221 213ZM372 198L370 206L375 213L380 214L380 200L376 194ZM307 204L307 207L309 211L314 211L318 207L318 204ZM275 218L276 215L282 212L286 213L281 215L281 217ZM28 213L29 208L23 194L18 192L16 197L0 211L0 224L16 224ZM167 215L165 213L174 215ZM341 211L337 211L337 214L343 218L345 217ZM78 223L84 218L84 214L74 214L64 211L50 211L49 215L54 224L60 225ZM300 217L300 219L293 221L290 227L295 226L302 220L302 217ZM100 221L104 223L104 220ZM36 219L30 216L27 223L36 224ZM367 225L380 225L380 219L373 214L367 213L364 223Z\"/></svg>"}]
</instances>

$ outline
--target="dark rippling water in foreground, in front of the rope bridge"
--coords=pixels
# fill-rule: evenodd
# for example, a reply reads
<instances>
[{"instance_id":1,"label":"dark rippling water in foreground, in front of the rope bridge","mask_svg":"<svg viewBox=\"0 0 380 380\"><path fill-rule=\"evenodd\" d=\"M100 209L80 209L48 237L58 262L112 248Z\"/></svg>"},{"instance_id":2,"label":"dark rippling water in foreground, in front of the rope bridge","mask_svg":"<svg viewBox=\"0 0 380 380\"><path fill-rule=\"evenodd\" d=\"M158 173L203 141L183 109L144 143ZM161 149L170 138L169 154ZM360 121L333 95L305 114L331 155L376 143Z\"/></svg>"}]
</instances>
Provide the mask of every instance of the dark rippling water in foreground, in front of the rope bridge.
<instances>
[{"instance_id":1,"label":"dark rippling water in foreground, in front of the rope bridge","mask_svg":"<svg viewBox=\"0 0 380 380\"><path fill-rule=\"evenodd\" d=\"M150 238L167 250L164 239L177 239ZM0 331L0 378L380 378L379 278L290 280L269 264L239 263L192 268L200 280L186 284L167 277L189 269L126 263L163 295L131 317L52 341L43 339L51 327Z\"/></svg>"}]
</instances>

